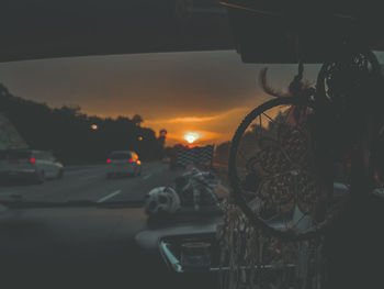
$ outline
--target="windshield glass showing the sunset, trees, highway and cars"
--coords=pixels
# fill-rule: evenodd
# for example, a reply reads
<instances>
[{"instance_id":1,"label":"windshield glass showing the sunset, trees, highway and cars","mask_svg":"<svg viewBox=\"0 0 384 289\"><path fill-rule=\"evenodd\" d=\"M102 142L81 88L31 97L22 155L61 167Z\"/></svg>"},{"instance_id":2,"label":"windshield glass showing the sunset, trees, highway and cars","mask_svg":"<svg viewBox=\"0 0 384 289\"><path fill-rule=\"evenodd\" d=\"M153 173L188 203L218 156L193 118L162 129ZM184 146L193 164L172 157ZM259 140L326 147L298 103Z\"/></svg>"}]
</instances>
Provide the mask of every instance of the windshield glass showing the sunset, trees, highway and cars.
<instances>
[{"instance_id":1,"label":"windshield glass showing the sunset, trees, highway and cars","mask_svg":"<svg viewBox=\"0 0 384 289\"><path fill-rule=\"evenodd\" d=\"M235 51L0 64L0 199L144 201L154 188L178 188L192 167L227 192L233 134L271 99L258 82L263 67ZM282 91L297 70L268 68ZM318 69L306 65L305 79Z\"/></svg>"}]
</instances>

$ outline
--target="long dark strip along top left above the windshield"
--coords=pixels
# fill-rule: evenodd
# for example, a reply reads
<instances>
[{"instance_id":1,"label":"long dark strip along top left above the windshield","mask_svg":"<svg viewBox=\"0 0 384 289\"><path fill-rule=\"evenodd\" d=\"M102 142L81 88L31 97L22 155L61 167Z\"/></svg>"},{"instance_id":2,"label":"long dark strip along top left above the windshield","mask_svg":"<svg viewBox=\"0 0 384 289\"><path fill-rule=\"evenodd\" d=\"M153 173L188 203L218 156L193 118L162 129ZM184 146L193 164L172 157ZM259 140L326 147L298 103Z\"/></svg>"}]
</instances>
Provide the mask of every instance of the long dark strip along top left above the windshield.
<instances>
[{"instance_id":1,"label":"long dark strip along top left above the windshield","mask_svg":"<svg viewBox=\"0 0 384 289\"><path fill-rule=\"evenodd\" d=\"M4 0L0 62L233 48L217 0Z\"/></svg>"}]
</instances>

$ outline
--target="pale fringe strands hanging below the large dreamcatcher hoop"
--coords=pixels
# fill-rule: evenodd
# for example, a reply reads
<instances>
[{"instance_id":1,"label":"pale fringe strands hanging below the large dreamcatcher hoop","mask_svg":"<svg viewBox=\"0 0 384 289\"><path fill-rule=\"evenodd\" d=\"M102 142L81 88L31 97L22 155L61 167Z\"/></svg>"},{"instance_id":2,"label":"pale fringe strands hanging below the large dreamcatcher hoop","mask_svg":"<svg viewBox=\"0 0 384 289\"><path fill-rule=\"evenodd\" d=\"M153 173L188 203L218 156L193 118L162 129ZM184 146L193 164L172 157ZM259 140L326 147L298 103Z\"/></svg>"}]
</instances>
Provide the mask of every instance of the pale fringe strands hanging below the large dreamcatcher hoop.
<instances>
[{"instance_id":1,"label":"pale fringe strands hanging below the large dreamcatcher hoop","mask_svg":"<svg viewBox=\"0 0 384 289\"><path fill-rule=\"evenodd\" d=\"M228 199L224 199L221 207L224 218L216 229L219 245L218 267L228 270L218 271L219 288L260 288L260 274L264 274L263 278L269 277L271 281L270 287L266 288L280 288L276 286L279 282L289 284L292 274L289 274L285 265L297 260L297 244L262 235L260 230L252 226L241 209ZM258 268L261 264L275 266L279 271L285 274L280 278L271 278L268 276L271 271Z\"/></svg>"}]
</instances>

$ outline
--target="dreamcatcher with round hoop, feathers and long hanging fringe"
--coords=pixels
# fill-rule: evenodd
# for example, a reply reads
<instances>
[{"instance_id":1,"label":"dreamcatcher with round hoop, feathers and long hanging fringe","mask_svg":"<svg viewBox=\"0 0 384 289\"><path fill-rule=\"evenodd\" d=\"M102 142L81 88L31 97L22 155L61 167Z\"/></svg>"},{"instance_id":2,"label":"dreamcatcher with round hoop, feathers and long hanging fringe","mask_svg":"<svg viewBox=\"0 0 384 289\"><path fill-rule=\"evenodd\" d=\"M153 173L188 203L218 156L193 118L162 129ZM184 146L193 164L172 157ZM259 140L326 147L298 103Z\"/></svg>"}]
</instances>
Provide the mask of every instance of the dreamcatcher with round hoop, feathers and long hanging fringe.
<instances>
[{"instance_id":1,"label":"dreamcatcher with round hoop, feathers and long hanging fringe","mask_svg":"<svg viewBox=\"0 0 384 289\"><path fill-rule=\"evenodd\" d=\"M357 95L377 75L371 53L337 59L323 66L316 89L302 80L303 64L287 93L269 87L261 71L274 99L251 111L231 142L231 196L217 230L222 288L325 288L324 230L350 197L346 190L335 199L335 168L341 164L342 179L350 179L351 159L340 152L355 144L369 149L363 130L340 133L346 123L335 121L353 113Z\"/></svg>"}]
</instances>

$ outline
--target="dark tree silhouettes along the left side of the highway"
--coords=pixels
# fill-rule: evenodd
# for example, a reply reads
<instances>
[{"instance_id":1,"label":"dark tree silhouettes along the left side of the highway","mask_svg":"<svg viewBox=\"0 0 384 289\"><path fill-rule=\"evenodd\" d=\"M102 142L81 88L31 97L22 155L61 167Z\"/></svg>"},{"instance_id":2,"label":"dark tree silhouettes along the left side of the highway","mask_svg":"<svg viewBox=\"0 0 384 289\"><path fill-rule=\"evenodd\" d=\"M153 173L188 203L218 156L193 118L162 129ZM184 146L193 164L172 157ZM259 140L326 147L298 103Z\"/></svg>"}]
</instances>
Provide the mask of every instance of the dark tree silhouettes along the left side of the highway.
<instances>
[{"instance_id":1,"label":"dark tree silhouettes along the left side of the highway","mask_svg":"<svg viewBox=\"0 0 384 289\"><path fill-rule=\"evenodd\" d=\"M104 163L111 151L135 151L142 159L162 156L156 133L140 127L143 118L100 118L80 107L49 108L12 96L0 84L0 112L15 126L31 148L52 149L65 164ZM91 130L97 124L98 130ZM143 137L138 142L138 136Z\"/></svg>"}]
</instances>

